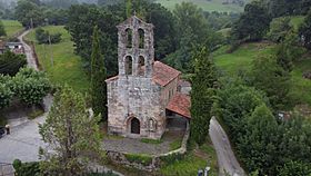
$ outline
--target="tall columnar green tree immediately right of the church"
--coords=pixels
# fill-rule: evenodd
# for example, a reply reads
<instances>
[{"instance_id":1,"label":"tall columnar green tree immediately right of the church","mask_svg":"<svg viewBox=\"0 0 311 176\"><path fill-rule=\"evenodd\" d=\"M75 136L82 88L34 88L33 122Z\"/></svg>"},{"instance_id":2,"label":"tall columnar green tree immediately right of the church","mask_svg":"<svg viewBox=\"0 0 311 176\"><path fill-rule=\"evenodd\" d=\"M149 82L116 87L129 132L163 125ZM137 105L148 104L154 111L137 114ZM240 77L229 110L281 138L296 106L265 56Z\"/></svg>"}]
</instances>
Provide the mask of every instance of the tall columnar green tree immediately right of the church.
<instances>
[{"instance_id":1,"label":"tall columnar green tree immediately right of the church","mask_svg":"<svg viewBox=\"0 0 311 176\"><path fill-rule=\"evenodd\" d=\"M205 47L195 51L195 72L191 90L191 138L202 145L209 134L217 74Z\"/></svg>"}]
</instances>

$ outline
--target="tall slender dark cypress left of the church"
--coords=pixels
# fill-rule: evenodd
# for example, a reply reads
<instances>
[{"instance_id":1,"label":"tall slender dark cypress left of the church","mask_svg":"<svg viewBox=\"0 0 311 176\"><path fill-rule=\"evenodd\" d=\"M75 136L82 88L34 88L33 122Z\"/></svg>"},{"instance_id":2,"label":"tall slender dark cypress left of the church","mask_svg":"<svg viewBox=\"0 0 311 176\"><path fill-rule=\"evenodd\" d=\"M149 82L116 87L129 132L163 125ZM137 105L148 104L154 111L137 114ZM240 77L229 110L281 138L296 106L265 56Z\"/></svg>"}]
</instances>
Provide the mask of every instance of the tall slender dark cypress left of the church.
<instances>
[{"instance_id":1,"label":"tall slender dark cypress left of the church","mask_svg":"<svg viewBox=\"0 0 311 176\"><path fill-rule=\"evenodd\" d=\"M96 115L107 119L107 72L104 59L100 50L99 31L94 27L93 43L92 43L92 67L91 67L91 99L92 108Z\"/></svg>"}]
</instances>

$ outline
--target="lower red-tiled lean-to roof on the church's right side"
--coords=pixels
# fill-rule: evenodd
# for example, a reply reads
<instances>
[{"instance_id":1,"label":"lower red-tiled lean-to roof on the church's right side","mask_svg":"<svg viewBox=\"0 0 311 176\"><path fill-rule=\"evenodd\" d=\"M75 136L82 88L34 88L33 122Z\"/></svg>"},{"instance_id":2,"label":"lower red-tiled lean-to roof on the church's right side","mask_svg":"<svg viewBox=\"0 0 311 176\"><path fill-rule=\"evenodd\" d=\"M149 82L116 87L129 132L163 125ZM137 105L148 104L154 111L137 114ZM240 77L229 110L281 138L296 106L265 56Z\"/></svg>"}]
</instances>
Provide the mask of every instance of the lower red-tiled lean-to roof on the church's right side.
<instances>
[{"instance_id":1,"label":"lower red-tiled lean-to roof on the church's right side","mask_svg":"<svg viewBox=\"0 0 311 176\"><path fill-rule=\"evenodd\" d=\"M169 101L167 109L191 119L190 107L190 96L177 92Z\"/></svg>"}]
</instances>

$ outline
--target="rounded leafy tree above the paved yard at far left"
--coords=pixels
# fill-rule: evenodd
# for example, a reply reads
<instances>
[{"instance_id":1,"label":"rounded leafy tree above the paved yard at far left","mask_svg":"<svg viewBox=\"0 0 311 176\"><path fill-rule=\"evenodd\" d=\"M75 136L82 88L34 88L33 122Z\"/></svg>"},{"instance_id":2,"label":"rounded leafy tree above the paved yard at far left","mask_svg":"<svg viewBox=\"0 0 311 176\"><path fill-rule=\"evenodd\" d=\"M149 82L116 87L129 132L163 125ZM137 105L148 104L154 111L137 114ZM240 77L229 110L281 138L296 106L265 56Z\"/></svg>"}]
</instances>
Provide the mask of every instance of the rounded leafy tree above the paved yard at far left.
<instances>
[{"instance_id":1,"label":"rounded leafy tree above the paved yard at far left","mask_svg":"<svg viewBox=\"0 0 311 176\"><path fill-rule=\"evenodd\" d=\"M14 95L27 105L40 104L51 88L44 72L22 68L13 78Z\"/></svg>"}]
</instances>

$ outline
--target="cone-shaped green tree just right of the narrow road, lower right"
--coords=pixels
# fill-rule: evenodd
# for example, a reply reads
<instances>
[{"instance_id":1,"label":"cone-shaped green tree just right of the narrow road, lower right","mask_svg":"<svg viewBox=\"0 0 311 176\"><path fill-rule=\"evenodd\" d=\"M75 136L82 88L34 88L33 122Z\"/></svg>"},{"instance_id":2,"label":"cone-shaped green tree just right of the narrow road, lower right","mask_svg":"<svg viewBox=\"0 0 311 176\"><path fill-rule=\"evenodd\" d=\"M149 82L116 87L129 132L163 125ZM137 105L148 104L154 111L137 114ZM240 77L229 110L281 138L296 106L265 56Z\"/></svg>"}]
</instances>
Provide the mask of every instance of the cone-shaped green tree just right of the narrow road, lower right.
<instances>
[{"instance_id":1,"label":"cone-shaped green tree just right of the narrow road, lower right","mask_svg":"<svg viewBox=\"0 0 311 176\"><path fill-rule=\"evenodd\" d=\"M245 119L245 134L237 141L238 153L249 172L259 170L260 175L274 175L278 155L278 124L271 110L264 105L258 106ZM272 168L273 170L273 168Z\"/></svg>"}]
</instances>

